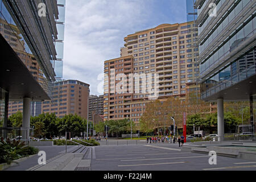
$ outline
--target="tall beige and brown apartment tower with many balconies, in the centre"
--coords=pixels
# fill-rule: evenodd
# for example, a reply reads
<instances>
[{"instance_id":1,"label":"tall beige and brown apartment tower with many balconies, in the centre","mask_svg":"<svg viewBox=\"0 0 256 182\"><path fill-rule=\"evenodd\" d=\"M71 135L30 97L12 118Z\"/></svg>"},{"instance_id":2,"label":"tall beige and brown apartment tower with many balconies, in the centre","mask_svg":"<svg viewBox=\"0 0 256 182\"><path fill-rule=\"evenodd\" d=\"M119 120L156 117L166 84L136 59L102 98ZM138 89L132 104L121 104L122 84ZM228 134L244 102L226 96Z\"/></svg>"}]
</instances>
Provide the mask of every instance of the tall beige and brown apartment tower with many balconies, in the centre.
<instances>
[{"instance_id":1,"label":"tall beige and brown apartment tower with many balconies, in the centre","mask_svg":"<svg viewBox=\"0 0 256 182\"><path fill-rule=\"evenodd\" d=\"M186 84L199 76L196 36L193 22L160 24L126 36L121 57L104 64L104 120L138 122L147 102L185 97Z\"/></svg>"}]
</instances>

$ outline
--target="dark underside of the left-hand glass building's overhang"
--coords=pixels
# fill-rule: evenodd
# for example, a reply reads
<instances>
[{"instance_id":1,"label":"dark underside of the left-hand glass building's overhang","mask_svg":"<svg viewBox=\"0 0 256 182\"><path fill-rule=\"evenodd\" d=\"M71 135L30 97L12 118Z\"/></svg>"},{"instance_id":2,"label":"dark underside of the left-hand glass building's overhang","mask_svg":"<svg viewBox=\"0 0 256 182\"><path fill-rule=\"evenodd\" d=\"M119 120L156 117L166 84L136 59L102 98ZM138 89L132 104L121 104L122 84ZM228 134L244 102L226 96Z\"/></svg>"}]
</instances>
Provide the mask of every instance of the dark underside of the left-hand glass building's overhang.
<instances>
[{"instance_id":1,"label":"dark underside of the left-hand glass building's overhang","mask_svg":"<svg viewBox=\"0 0 256 182\"><path fill-rule=\"evenodd\" d=\"M31 98L32 101L50 100L42 86L28 71L1 34L0 46L0 87L9 92L9 101L23 100L24 97Z\"/></svg>"}]
</instances>

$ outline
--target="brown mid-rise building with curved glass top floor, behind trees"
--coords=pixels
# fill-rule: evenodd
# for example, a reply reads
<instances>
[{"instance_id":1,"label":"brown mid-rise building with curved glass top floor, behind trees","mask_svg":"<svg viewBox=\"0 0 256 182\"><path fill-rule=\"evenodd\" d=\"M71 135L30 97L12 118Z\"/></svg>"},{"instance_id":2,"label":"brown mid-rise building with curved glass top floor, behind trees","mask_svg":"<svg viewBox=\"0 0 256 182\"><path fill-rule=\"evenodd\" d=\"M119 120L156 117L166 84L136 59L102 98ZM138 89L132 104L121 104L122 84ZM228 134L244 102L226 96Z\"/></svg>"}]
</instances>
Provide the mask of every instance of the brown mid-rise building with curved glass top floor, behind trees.
<instances>
[{"instance_id":1,"label":"brown mid-rise building with curved glass top floor, behind trees","mask_svg":"<svg viewBox=\"0 0 256 182\"><path fill-rule=\"evenodd\" d=\"M42 113L55 113L59 118L77 114L87 119L89 86L77 80L53 82L52 100L43 102Z\"/></svg>"}]
</instances>

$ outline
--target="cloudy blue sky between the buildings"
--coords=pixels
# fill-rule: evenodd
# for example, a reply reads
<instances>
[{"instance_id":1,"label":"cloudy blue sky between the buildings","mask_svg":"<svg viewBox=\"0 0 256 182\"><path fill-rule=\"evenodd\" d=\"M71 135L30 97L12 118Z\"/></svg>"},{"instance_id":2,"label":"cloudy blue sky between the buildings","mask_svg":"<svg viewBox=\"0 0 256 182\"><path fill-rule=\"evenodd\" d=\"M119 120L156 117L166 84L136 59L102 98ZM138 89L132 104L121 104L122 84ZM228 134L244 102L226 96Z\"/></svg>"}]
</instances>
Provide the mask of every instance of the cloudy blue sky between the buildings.
<instances>
[{"instance_id":1,"label":"cloudy blue sky between the buildings","mask_svg":"<svg viewBox=\"0 0 256 182\"><path fill-rule=\"evenodd\" d=\"M127 35L187 21L185 0L67 0L63 78L103 94L104 61L120 57Z\"/></svg>"}]
</instances>

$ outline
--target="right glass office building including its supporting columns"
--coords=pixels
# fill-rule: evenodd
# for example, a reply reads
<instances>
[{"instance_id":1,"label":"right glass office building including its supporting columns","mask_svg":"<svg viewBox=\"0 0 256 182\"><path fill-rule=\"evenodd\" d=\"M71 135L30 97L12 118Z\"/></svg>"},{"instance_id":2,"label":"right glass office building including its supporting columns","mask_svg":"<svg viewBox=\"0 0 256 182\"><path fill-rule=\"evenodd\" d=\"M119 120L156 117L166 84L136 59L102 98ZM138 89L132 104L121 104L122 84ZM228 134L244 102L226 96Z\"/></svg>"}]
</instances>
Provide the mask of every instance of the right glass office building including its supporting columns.
<instances>
[{"instance_id":1,"label":"right glass office building including its supporting columns","mask_svg":"<svg viewBox=\"0 0 256 182\"><path fill-rule=\"evenodd\" d=\"M217 101L218 140L224 140L224 101L250 100L255 131L255 5L254 0L195 2L201 98Z\"/></svg>"}]
</instances>

